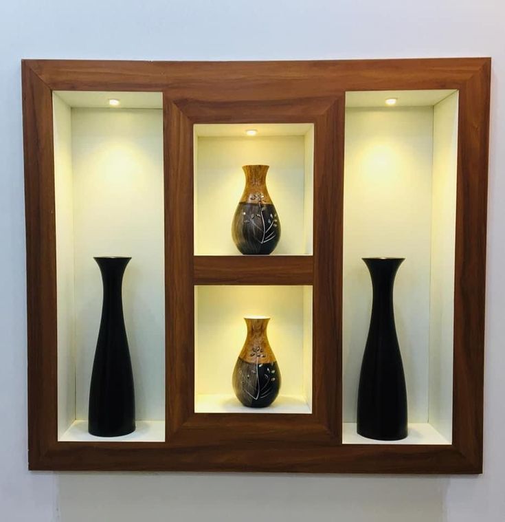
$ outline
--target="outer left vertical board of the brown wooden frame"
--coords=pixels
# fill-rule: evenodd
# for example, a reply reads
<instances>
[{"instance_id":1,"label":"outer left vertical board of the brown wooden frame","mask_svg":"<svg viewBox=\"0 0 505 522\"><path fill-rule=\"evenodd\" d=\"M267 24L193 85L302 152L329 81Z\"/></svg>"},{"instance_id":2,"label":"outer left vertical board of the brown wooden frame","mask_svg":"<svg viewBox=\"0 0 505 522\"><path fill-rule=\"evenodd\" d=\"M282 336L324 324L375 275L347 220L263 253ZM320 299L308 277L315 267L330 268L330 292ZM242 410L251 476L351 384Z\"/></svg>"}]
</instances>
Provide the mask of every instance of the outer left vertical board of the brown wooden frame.
<instances>
[{"instance_id":1,"label":"outer left vertical board of the brown wooden frame","mask_svg":"<svg viewBox=\"0 0 505 522\"><path fill-rule=\"evenodd\" d=\"M38 468L58 431L56 222L52 92L22 67L28 345L28 461Z\"/></svg>"}]
</instances>

